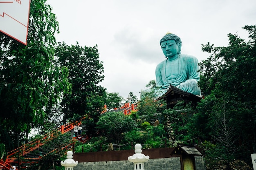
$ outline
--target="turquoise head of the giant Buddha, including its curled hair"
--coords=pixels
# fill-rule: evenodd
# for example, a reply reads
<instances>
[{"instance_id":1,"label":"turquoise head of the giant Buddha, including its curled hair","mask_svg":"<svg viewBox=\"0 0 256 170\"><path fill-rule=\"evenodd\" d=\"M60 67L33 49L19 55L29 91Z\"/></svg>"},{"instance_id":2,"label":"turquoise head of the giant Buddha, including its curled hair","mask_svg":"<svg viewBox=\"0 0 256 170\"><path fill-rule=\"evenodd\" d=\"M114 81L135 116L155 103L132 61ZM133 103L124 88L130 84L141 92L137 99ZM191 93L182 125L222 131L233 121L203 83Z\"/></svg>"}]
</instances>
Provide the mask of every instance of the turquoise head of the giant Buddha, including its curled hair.
<instances>
[{"instance_id":1,"label":"turquoise head of the giant Buddha, including its curled hair","mask_svg":"<svg viewBox=\"0 0 256 170\"><path fill-rule=\"evenodd\" d=\"M166 57L172 57L172 55L180 54L181 44L182 42L180 37L169 32L160 40L161 48ZM172 51L172 53L169 53L168 50Z\"/></svg>"}]
</instances>

